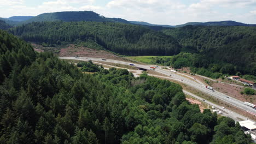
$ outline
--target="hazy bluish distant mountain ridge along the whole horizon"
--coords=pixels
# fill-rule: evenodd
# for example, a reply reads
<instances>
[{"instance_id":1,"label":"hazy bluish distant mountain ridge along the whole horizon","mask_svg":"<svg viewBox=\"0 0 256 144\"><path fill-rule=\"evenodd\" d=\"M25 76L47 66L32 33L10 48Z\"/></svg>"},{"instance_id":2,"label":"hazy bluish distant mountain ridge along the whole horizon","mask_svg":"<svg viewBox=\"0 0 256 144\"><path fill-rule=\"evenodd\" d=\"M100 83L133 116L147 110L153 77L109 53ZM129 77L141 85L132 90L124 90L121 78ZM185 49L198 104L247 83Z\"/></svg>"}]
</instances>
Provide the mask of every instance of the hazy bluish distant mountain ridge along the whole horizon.
<instances>
[{"instance_id":1,"label":"hazy bluish distant mountain ridge along the whole horizon","mask_svg":"<svg viewBox=\"0 0 256 144\"><path fill-rule=\"evenodd\" d=\"M43 13L37 16L11 16L9 18L0 18L10 26L18 26L30 22L41 21L95 21L95 22L121 22L133 25L148 26L151 29L159 31L165 28L184 27L188 25L192 26L256 26L256 24L246 24L236 21L210 21L210 22L187 22L183 25L156 25L143 21L127 21L121 18L108 18L94 11L61 11L55 13Z\"/></svg>"}]
</instances>

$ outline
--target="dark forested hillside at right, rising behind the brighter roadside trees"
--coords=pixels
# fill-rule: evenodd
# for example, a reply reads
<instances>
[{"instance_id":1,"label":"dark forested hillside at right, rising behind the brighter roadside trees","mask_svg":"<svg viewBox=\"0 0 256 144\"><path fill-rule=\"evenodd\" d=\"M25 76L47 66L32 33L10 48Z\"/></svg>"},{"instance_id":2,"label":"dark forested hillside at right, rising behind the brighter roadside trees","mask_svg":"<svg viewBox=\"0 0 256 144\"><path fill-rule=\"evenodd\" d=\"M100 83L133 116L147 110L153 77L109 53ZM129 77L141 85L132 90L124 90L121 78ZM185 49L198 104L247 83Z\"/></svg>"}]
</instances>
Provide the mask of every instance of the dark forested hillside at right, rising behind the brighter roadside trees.
<instances>
[{"instance_id":1,"label":"dark forested hillside at right, rising behind the brighter roadside trees","mask_svg":"<svg viewBox=\"0 0 256 144\"><path fill-rule=\"evenodd\" d=\"M177 39L183 51L200 54L198 68L228 63L232 74L256 75L256 27L186 26L163 32Z\"/></svg>"}]
</instances>

